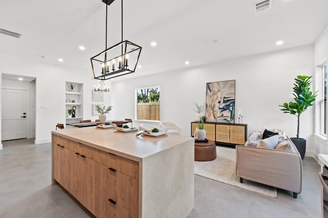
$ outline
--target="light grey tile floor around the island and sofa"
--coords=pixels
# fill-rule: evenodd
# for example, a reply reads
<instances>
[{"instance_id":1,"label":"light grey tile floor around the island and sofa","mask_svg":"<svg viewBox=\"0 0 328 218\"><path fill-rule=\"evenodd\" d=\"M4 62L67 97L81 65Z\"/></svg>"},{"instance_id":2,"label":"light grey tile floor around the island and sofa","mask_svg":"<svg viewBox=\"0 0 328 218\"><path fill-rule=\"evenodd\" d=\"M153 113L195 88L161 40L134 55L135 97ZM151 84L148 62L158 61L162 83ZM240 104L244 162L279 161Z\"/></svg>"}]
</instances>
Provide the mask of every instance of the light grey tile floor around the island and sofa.
<instances>
[{"instance_id":1,"label":"light grey tile floor around the island and sofa","mask_svg":"<svg viewBox=\"0 0 328 218\"><path fill-rule=\"evenodd\" d=\"M2 142L0 217L90 217L66 192L51 185L51 143L33 142ZM297 199L285 190L278 190L278 197L273 199L195 176L195 207L188 218L320 217L319 171L313 158L304 158L303 190Z\"/></svg>"}]
</instances>

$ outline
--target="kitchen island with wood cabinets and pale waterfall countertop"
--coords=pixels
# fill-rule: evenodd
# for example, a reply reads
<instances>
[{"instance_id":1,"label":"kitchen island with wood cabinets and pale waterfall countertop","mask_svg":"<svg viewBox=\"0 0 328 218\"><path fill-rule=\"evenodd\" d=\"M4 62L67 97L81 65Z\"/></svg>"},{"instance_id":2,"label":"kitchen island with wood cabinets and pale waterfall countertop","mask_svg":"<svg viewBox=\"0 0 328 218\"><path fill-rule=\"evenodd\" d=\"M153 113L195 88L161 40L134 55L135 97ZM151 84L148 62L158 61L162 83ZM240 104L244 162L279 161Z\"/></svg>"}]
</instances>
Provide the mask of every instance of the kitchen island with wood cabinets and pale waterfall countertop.
<instances>
[{"instance_id":1,"label":"kitchen island with wood cabinets and pale waterfall countertop","mask_svg":"<svg viewBox=\"0 0 328 218\"><path fill-rule=\"evenodd\" d=\"M186 217L194 140L95 127L52 132L52 183L97 217Z\"/></svg>"}]
</instances>

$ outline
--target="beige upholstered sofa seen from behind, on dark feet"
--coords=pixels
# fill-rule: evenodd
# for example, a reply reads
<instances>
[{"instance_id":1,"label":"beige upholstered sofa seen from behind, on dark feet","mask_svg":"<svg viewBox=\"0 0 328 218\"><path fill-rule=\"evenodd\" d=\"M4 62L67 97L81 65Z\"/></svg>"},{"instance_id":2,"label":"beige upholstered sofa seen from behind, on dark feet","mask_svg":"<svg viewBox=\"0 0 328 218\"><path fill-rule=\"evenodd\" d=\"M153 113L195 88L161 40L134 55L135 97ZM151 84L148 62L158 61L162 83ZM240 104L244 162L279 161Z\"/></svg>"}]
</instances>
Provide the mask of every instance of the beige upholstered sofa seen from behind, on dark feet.
<instances>
[{"instance_id":1,"label":"beige upholstered sofa seen from behind, on dark feet","mask_svg":"<svg viewBox=\"0 0 328 218\"><path fill-rule=\"evenodd\" d=\"M294 143L292 151L236 146L236 175L243 179L274 186L297 194L302 191L302 160Z\"/></svg>"}]
</instances>

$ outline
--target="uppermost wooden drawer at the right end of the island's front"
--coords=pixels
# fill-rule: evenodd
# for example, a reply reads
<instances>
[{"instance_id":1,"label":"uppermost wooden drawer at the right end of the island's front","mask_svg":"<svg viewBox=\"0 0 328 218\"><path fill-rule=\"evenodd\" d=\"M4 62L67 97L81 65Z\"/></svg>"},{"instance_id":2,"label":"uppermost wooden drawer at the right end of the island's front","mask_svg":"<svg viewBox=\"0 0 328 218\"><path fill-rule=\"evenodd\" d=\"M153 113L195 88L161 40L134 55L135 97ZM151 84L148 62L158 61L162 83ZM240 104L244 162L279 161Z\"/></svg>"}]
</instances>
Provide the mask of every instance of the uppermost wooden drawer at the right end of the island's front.
<instances>
[{"instance_id":1,"label":"uppermost wooden drawer at the right end of the island's front","mask_svg":"<svg viewBox=\"0 0 328 218\"><path fill-rule=\"evenodd\" d=\"M93 156L91 157L94 161L104 164L107 167L122 172L134 179L138 179L138 162L120 157L109 152L95 149Z\"/></svg>"}]
</instances>

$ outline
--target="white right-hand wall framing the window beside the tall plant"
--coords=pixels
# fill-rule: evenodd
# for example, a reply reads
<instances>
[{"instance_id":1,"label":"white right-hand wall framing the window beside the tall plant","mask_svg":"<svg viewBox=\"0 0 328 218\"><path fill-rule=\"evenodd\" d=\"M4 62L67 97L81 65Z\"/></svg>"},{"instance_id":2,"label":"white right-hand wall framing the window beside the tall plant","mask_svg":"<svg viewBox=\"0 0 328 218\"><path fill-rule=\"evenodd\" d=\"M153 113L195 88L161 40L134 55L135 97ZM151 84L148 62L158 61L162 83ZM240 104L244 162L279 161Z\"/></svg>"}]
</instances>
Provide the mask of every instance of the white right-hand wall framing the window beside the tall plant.
<instances>
[{"instance_id":1,"label":"white right-hand wall framing the window beside the tall plant","mask_svg":"<svg viewBox=\"0 0 328 218\"><path fill-rule=\"evenodd\" d=\"M322 64L324 61L328 60L328 26L325 28L325 30L321 33L321 35L318 37L314 44L314 65L315 65L315 76L316 76L316 90L319 90L320 88L320 64ZM319 100L319 98L317 98ZM320 102L317 101L316 104L316 114L320 114ZM328 115L328 114L327 114ZM326 116L327 117L327 116ZM319 116L316 116L316 133L320 132L320 120L318 119ZM327 120L328 124L328 120ZM328 125L327 125L328 127ZM328 154L328 143L327 139L320 137L319 135L315 135L314 138L315 143L315 149L314 158L318 161L318 154Z\"/></svg>"}]
</instances>

